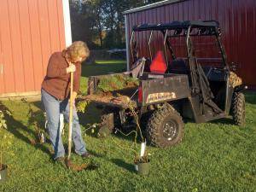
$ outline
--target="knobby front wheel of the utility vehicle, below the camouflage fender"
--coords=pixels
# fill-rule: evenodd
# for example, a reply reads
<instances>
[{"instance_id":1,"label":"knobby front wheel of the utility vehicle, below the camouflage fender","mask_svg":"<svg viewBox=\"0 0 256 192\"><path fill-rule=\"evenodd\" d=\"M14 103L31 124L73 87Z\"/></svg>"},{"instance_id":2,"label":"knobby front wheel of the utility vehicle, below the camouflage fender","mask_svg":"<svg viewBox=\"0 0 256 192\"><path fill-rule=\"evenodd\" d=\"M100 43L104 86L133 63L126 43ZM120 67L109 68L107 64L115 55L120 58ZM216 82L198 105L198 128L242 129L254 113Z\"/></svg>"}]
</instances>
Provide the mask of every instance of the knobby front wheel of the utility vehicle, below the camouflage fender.
<instances>
[{"instance_id":1,"label":"knobby front wheel of the utility vehicle, below the camouflage fender","mask_svg":"<svg viewBox=\"0 0 256 192\"><path fill-rule=\"evenodd\" d=\"M242 93L234 93L230 113L236 125L245 125L245 96Z\"/></svg>"}]
</instances>

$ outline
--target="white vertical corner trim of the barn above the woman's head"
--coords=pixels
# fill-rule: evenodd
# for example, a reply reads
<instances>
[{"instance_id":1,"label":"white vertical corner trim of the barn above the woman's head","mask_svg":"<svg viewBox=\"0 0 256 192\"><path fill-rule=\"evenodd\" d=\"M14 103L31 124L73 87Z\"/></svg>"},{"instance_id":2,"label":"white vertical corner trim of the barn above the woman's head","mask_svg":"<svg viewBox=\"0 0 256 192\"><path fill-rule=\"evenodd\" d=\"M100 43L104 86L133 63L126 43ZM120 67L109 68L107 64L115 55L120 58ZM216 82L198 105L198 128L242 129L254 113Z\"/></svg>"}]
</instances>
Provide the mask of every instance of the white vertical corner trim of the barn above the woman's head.
<instances>
[{"instance_id":1,"label":"white vertical corner trim of the barn above the woman's head","mask_svg":"<svg viewBox=\"0 0 256 192\"><path fill-rule=\"evenodd\" d=\"M68 0L62 0L62 6L63 6L63 19L64 19L64 27L65 27L66 47L68 47L70 44L72 44L72 32L71 32L70 10L69 10Z\"/></svg>"}]
</instances>

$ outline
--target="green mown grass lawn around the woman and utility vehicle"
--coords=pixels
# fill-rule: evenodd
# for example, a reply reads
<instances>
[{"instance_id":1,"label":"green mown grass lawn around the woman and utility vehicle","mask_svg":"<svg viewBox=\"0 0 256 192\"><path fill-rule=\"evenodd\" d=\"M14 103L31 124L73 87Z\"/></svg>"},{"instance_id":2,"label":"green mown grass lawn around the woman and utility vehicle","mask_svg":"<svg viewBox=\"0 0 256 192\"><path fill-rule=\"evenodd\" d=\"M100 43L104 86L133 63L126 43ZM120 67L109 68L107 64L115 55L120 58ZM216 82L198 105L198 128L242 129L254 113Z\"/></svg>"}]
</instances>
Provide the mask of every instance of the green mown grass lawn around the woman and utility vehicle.
<instances>
[{"instance_id":1,"label":"green mown grass lawn around the woman and utility vehicle","mask_svg":"<svg viewBox=\"0 0 256 192\"><path fill-rule=\"evenodd\" d=\"M123 61L97 61L84 66L83 92L90 74L123 68ZM244 128L232 125L230 119L201 125L187 123L182 143L172 148L148 147L152 156L147 177L133 171L132 152L120 148L129 148L131 137L113 134L97 139L85 131L88 123L98 120L99 111L93 106L80 116L80 121L87 148L94 157L82 160L72 154L72 160L78 164L94 162L99 168L74 172L51 160L49 143L34 143L36 131L28 125L28 103L3 102L13 118L8 130L0 130L0 136L6 133L11 143L5 155L9 181L0 184L0 191L256 191L255 93L247 93L246 99ZM40 102L31 104L34 111L41 110Z\"/></svg>"}]
</instances>

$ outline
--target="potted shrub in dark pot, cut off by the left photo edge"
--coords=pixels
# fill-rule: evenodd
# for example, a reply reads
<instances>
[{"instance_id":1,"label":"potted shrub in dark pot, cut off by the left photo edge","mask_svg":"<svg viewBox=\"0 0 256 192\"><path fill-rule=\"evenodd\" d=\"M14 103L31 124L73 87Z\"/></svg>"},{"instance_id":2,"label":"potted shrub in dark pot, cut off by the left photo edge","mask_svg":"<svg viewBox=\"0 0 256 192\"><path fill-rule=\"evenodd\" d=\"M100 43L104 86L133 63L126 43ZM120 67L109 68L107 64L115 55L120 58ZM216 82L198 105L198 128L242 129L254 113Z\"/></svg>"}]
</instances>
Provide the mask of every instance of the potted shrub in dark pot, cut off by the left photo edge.
<instances>
[{"instance_id":1,"label":"potted shrub in dark pot, cut off by the left photo edge","mask_svg":"<svg viewBox=\"0 0 256 192\"><path fill-rule=\"evenodd\" d=\"M7 129L5 114L11 115L8 110L1 110L0 108L0 129ZM5 143L6 139L7 136L3 134L0 143L0 183L4 183L8 178L8 166L3 164L3 152L4 149L7 148L7 143Z\"/></svg>"}]
</instances>

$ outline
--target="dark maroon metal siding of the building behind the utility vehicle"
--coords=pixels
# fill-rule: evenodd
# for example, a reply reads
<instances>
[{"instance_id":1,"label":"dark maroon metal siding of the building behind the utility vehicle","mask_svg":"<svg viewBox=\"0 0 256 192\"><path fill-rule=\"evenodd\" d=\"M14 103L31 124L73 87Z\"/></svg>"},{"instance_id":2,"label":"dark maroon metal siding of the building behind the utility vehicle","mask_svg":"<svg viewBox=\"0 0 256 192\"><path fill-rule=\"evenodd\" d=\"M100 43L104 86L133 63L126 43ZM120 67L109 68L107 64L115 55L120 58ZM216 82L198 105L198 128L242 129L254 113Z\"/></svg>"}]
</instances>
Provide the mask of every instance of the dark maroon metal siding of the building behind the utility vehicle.
<instances>
[{"instance_id":1,"label":"dark maroon metal siding of the building behind the utility vehicle","mask_svg":"<svg viewBox=\"0 0 256 192\"><path fill-rule=\"evenodd\" d=\"M171 22L172 20L218 20L223 32L223 42L229 62L239 64L238 73L248 85L256 85L253 72L256 71L256 1L255 0L187 0L171 3L153 9L128 14L129 31L135 25L143 24L144 20L134 19L147 15L148 23ZM131 35L129 35L131 37ZM143 36L149 37L149 35ZM154 36L155 37L155 36ZM207 44L207 39L201 42ZM142 40L142 39L140 39ZM144 42L145 38L143 38ZM139 42L143 44L143 41ZM176 44L183 42L178 39ZM161 49L161 39L152 42L154 49ZM206 45L211 50L211 45ZM145 49L148 55L148 49ZM155 52L156 50L153 50ZM143 51L144 52L144 51ZM210 52L210 51L209 51ZM213 52L213 50L212 50ZM183 49L177 50L177 55Z\"/></svg>"}]
</instances>

